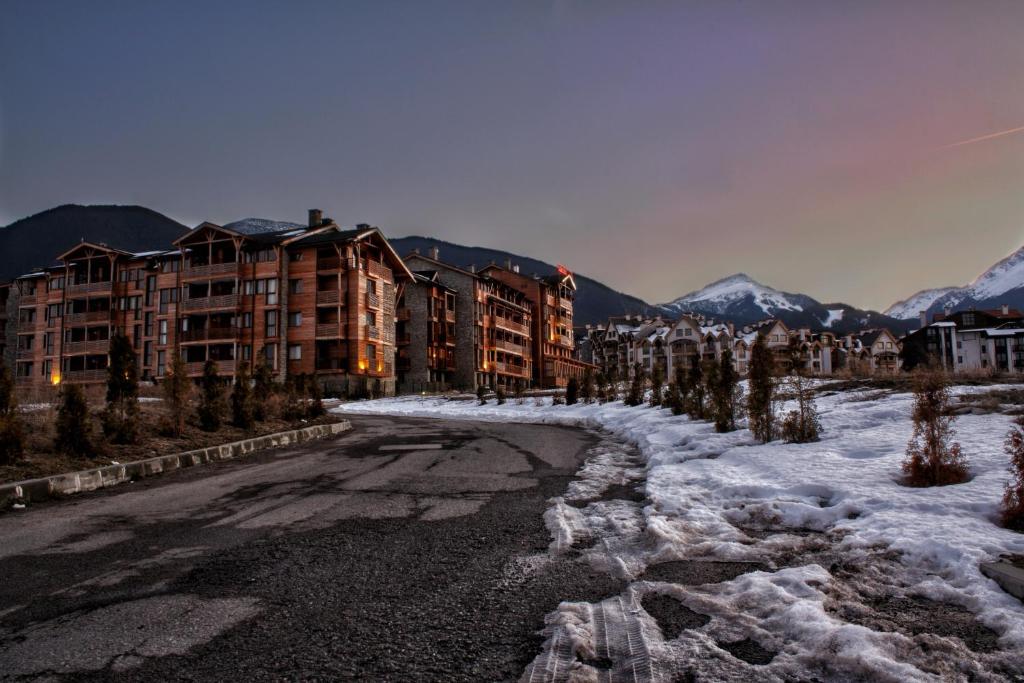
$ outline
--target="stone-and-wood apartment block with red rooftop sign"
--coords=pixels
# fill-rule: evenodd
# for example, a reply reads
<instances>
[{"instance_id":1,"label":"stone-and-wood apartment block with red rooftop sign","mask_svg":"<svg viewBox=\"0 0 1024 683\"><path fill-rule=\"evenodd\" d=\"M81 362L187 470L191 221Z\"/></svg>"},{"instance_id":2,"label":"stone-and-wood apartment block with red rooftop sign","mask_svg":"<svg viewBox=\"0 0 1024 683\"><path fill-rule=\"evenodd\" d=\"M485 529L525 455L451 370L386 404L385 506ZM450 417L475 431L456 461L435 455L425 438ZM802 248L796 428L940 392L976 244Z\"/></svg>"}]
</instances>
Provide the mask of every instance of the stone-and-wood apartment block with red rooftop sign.
<instances>
[{"instance_id":1,"label":"stone-and-wood apartment block with red rooftop sign","mask_svg":"<svg viewBox=\"0 0 1024 683\"><path fill-rule=\"evenodd\" d=\"M592 367L575 357L575 280L564 266L547 276L492 263L458 266L409 254L414 280L398 301L398 385L402 391L514 391L558 388Z\"/></svg>"}]
</instances>

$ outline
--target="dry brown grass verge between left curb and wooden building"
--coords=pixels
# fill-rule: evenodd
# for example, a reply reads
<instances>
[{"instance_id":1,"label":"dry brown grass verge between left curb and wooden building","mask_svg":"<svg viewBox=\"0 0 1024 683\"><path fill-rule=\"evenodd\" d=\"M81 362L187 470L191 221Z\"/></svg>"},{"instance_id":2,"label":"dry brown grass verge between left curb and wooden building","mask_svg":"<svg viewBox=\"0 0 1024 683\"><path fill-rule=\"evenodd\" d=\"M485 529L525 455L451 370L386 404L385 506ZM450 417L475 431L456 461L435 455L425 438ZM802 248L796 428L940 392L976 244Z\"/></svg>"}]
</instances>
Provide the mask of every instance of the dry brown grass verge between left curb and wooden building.
<instances>
[{"instance_id":1,"label":"dry brown grass verge between left curb and wooden building","mask_svg":"<svg viewBox=\"0 0 1024 683\"><path fill-rule=\"evenodd\" d=\"M71 458L62 454L53 452L54 422L56 419L55 403L50 403L46 408L27 410L23 412L26 434L25 458L13 465L0 466L0 482L20 481L36 477L60 474L62 472L74 472L77 470L110 465L112 461L128 463L135 460L144 460L154 456L162 456L194 449L203 449L219 443L238 441L252 436L261 436L289 429L298 429L316 424L329 424L338 422L340 418L333 415L326 415L315 420L288 422L279 418L261 422L250 431L238 429L229 424L216 432L205 432L198 426L195 418L190 418L185 425L185 430L180 437L165 436L161 434L162 425L167 422L167 410L161 402L140 403L140 429L139 442L128 445L115 445L105 442L102 438L102 430L99 424L99 413L102 410L101 395L99 399L96 394L101 392L90 392L90 408L92 409L93 436L99 450L95 458ZM45 398L40 394L34 397L23 398L23 404L37 404Z\"/></svg>"}]
</instances>

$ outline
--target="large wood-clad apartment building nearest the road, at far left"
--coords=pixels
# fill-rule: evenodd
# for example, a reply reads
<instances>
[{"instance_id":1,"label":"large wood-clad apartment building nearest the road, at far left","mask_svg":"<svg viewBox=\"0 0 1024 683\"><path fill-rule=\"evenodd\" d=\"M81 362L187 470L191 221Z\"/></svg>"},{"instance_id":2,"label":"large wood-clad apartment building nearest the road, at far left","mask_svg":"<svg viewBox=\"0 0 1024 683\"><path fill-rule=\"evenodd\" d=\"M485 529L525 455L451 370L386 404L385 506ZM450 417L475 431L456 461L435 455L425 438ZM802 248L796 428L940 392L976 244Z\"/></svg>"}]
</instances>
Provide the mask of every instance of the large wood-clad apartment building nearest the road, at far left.
<instances>
[{"instance_id":1,"label":"large wood-clad apartment building nearest the road, at far left","mask_svg":"<svg viewBox=\"0 0 1024 683\"><path fill-rule=\"evenodd\" d=\"M263 354L280 377L315 374L345 393L392 393L395 304L413 274L380 229L204 222L166 251L82 242L0 287L5 360L18 387L105 380L126 335L143 380L172 352L189 376L207 359L233 377Z\"/></svg>"}]
</instances>

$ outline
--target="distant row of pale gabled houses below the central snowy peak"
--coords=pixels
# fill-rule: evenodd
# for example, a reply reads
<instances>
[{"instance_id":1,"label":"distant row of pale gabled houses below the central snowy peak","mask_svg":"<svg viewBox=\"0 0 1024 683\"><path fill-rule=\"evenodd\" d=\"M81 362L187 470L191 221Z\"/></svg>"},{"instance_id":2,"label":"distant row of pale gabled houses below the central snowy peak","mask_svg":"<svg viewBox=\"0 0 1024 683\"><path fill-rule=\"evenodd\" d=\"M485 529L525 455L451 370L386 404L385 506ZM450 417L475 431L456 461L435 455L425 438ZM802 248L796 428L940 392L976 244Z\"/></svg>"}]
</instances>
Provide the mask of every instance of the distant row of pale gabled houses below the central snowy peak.
<instances>
[{"instance_id":1,"label":"distant row of pale gabled houses below the central snowy peak","mask_svg":"<svg viewBox=\"0 0 1024 683\"><path fill-rule=\"evenodd\" d=\"M744 376L758 336L764 338L783 372L795 366L815 375L830 375L843 368L866 374L895 374L900 369L899 341L884 329L837 336L790 330L777 319L737 330L730 323L698 314L677 319L625 315L609 318L606 325L587 326L585 334L581 357L623 378L630 377L638 365L645 373L660 370L673 377L679 368L720 361L726 349L732 352L736 372Z\"/></svg>"}]
</instances>

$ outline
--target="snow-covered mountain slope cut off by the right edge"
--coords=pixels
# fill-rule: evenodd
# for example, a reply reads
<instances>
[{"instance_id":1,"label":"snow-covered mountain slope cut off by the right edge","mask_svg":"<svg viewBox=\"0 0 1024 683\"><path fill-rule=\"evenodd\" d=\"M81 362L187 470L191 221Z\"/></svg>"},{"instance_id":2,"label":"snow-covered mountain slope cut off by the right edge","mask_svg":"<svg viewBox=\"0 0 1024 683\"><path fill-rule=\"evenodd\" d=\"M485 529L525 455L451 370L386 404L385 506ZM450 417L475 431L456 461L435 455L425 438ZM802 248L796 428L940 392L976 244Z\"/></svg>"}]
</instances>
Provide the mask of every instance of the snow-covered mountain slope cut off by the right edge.
<instances>
[{"instance_id":1,"label":"snow-covered mountain slope cut off by the right edge","mask_svg":"<svg viewBox=\"0 0 1024 683\"><path fill-rule=\"evenodd\" d=\"M886 310L900 319L916 318L922 310L929 313L944 308L998 308L1007 304L1024 306L1024 247L1006 257L966 287L945 287L919 292L898 301Z\"/></svg>"}]
</instances>

